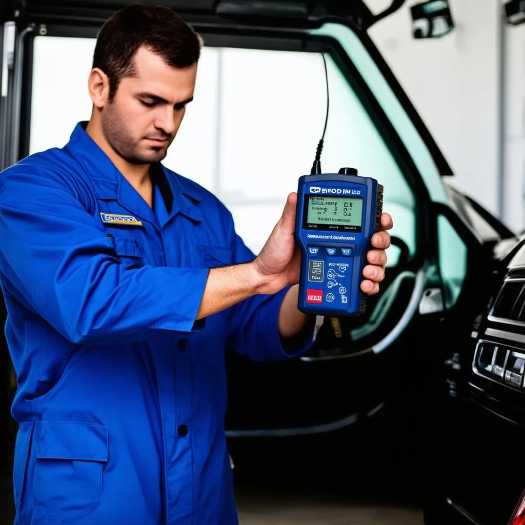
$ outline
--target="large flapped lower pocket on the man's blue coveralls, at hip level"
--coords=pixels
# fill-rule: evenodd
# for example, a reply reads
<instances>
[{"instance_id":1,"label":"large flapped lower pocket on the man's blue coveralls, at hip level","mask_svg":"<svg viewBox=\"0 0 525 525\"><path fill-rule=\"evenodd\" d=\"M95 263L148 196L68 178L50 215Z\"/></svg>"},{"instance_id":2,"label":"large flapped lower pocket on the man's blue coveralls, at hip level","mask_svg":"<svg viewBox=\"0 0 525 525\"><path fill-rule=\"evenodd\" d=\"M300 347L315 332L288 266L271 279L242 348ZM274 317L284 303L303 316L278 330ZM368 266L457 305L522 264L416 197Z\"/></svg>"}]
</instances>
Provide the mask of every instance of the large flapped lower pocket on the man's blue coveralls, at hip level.
<instances>
[{"instance_id":1,"label":"large flapped lower pocket on the man's blue coveralls, at hip level","mask_svg":"<svg viewBox=\"0 0 525 525\"><path fill-rule=\"evenodd\" d=\"M35 423L34 446L34 517L42 523L75 523L90 516L102 498L108 428L39 421Z\"/></svg>"}]
</instances>

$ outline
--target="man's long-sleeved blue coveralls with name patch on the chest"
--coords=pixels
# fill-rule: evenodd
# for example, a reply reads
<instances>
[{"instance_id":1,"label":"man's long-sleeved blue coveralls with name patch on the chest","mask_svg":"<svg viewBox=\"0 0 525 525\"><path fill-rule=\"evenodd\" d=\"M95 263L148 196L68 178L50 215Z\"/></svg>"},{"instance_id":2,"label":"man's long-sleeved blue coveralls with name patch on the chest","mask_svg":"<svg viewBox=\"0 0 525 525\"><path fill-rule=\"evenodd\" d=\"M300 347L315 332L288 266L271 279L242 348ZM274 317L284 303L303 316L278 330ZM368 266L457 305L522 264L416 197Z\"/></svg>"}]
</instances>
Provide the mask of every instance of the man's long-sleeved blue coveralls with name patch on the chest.
<instances>
[{"instance_id":1,"label":"man's long-sleeved blue coveralls with name patch on the chest","mask_svg":"<svg viewBox=\"0 0 525 525\"><path fill-rule=\"evenodd\" d=\"M17 522L237 523L226 348L279 360L311 338L281 344L287 289L196 322L208 269L254 254L216 197L160 164L155 213L85 125L0 176Z\"/></svg>"}]
</instances>

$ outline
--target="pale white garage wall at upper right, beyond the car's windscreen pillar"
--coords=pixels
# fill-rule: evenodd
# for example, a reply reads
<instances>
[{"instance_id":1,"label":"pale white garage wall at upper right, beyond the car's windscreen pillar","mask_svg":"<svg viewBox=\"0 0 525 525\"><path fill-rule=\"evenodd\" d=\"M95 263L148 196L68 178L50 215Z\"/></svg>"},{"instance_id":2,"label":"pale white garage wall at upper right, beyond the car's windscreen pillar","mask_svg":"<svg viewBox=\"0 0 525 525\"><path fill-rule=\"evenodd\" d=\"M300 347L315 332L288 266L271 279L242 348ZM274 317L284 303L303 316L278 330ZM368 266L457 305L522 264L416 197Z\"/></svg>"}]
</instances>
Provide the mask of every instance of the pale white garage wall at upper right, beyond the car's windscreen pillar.
<instances>
[{"instance_id":1,"label":"pale white garage wall at upper right, beyond the car's windscreen pillar","mask_svg":"<svg viewBox=\"0 0 525 525\"><path fill-rule=\"evenodd\" d=\"M451 0L453 33L415 40L407 2L370 34L469 193L514 229L525 227L525 26L500 23L495 0ZM505 36L504 61L501 35ZM500 89L504 67L506 89ZM505 99L502 98L505 95ZM503 206L500 198L500 104L505 103Z\"/></svg>"}]
</instances>

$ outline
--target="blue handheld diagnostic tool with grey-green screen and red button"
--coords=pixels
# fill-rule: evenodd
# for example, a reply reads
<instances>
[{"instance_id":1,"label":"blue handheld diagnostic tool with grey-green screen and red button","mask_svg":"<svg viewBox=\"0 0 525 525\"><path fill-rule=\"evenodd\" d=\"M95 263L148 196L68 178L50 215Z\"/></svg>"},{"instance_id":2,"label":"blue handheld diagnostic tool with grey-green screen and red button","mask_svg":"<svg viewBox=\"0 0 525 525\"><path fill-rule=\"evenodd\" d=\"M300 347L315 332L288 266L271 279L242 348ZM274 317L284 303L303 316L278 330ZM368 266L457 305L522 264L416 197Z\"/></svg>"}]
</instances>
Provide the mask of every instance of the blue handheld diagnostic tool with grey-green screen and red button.
<instances>
[{"instance_id":1,"label":"blue handheld diagnostic tool with grey-green screen and red button","mask_svg":"<svg viewBox=\"0 0 525 525\"><path fill-rule=\"evenodd\" d=\"M382 211L383 186L353 168L299 178L299 310L334 317L364 312L363 268Z\"/></svg>"}]
</instances>

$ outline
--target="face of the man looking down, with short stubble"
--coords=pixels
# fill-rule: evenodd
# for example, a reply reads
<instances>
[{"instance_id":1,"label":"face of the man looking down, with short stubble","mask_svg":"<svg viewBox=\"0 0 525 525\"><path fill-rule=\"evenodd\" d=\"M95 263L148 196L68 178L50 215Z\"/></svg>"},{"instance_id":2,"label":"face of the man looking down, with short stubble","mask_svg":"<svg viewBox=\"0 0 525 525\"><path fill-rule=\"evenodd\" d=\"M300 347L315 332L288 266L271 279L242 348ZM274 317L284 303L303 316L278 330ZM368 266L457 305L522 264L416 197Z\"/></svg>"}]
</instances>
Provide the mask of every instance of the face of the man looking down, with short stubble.
<instances>
[{"instance_id":1,"label":"face of the man looking down, with short stubble","mask_svg":"<svg viewBox=\"0 0 525 525\"><path fill-rule=\"evenodd\" d=\"M113 101L102 110L102 130L111 147L133 164L164 159L193 99L196 73L196 64L176 69L141 47L135 54L135 76L121 80Z\"/></svg>"}]
</instances>

